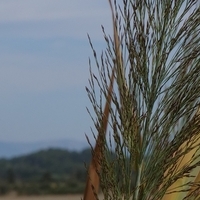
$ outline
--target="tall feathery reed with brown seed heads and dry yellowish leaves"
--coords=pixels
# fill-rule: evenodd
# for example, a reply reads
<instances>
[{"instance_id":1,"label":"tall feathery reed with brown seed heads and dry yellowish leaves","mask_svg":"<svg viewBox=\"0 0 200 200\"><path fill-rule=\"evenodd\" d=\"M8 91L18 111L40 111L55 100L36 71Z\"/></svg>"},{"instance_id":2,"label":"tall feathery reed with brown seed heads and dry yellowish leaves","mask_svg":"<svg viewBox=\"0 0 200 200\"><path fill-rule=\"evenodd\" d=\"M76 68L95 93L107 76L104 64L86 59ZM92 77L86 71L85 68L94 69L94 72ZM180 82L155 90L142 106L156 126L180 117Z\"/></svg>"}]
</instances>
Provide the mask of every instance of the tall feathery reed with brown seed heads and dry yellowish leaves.
<instances>
[{"instance_id":1,"label":"tall feathery reed with brown seed heads and dry yellowish leaves","mask_svg":"<svg viewBox=\"0 0 200 200\"><path fill-rule=\"evenodd\" d=\"M200 199L198 1L108 2L113 36L102 28L100 59L90 40L99 73L91 71L87 93L99 150L88 177L99 179L85 193L98 199L100 183L105 200Z\"/></svg>"}]
</instances>

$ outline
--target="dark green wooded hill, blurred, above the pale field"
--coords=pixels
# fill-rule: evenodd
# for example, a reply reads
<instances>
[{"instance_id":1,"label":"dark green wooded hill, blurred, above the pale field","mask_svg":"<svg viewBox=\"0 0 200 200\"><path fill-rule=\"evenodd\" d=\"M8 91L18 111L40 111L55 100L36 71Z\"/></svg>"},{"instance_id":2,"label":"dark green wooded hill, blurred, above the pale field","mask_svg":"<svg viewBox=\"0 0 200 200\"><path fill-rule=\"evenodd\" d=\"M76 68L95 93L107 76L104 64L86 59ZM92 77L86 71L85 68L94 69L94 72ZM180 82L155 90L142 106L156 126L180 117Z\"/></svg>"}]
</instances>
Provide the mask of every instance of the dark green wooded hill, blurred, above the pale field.
<instances>
[{"instance_id":1,"label":"dark green wooded hill, blurred, above the pale field","mask_svg":"<svg viewBox=\"0 0 200 200\"><path fill-rule=\"evenodd\" d=\"M63 149L41 150L26 156L0 159L0 194L80 193L86 181L91 149L80 152Z\"/></svg>"}]
</instances>

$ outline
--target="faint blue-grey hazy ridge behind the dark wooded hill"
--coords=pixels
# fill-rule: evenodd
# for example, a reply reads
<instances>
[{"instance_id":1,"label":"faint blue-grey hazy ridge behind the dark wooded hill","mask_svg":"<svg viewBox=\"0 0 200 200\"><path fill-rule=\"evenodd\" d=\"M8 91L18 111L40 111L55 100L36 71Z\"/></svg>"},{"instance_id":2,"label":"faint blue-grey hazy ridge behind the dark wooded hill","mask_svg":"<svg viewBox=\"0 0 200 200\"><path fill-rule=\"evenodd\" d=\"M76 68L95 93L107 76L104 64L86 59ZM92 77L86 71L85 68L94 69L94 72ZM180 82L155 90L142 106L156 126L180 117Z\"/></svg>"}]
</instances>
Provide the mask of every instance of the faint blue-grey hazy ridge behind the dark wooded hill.
<instances>
[{"instance_id":1,"label":"faint blue-grey hazy ridge behind the dark wooded hill","mask_svg":"<svg viewBox=\"0 0 200 200\"><path fill-rule=\"evenodd\" d=\"M0 141L0 158L12 158L48 148L61 148L81 151L87 147L89 147L87 141L78 141L73 139L50 140L28 143Z\"/></svg>"}]
</instances>

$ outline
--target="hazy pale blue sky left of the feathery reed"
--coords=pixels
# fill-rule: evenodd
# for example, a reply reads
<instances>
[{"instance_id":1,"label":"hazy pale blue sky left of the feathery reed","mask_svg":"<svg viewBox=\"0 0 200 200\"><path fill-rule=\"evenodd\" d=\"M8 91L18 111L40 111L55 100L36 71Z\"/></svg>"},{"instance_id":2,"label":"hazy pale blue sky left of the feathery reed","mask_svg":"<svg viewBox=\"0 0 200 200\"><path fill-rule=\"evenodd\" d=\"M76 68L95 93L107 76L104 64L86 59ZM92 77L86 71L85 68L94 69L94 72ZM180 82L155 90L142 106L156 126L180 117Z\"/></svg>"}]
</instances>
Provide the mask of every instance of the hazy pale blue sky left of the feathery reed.
<instances>
[{"instance_id":1,"label":"hazy pale blue sky left of the feathery reed","mask_svg":"<svg viewBox=\"0 0 200 200\"><path fill-rule=\"evenodd\" d=\"M0 1L0 141L91 135L87 33L100 52L101 25L107 0Z\"/></svg>"}]
</instances>

